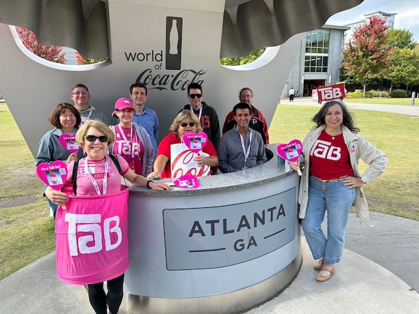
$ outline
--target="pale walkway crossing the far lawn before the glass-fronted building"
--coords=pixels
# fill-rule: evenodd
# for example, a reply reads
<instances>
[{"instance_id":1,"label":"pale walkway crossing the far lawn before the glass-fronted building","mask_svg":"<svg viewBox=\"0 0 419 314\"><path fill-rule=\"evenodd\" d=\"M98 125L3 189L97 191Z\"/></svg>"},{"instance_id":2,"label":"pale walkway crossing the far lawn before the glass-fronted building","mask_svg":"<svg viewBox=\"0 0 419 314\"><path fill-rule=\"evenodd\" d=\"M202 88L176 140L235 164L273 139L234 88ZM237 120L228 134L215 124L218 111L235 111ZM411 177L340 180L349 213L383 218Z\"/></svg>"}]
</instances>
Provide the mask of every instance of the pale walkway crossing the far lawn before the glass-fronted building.
<instances>
[{"instance_id":1,"label":"pale walkway crossing the far lawn before the glass-fronted building","mask_svg":"<svg viewBox=\"0 0 419 314\"><path fill-rule=\"evenodd\" d=\"M377 105L372 103L351 103L351 99L345 99L344 103L349 109L372 110L382 112L392 112L398 114L408 114L409 116L419 117L419 98L416 98L415 105ZM294 98L293 103L288 98L282 98L280 105L303 105L320 107L320 104L313 101L311 97L297 97Z\"/></svg>"}]
</instances>

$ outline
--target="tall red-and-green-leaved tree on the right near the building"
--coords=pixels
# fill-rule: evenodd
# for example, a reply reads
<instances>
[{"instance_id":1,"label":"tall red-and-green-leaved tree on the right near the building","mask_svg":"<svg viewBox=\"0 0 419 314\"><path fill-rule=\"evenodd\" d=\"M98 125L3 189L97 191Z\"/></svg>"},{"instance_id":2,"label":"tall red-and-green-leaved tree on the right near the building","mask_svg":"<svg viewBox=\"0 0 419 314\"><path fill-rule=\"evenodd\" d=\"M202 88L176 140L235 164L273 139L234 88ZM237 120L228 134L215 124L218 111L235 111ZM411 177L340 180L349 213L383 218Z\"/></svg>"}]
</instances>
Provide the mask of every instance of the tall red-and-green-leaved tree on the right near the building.
<instances>
[{"instance_id":1,"label":"tall red-and-green-leaved tree on the right near the building","mask_svg":"<svg viewBox=\"0 0 419 314\"><path fill-rule=\"evenodd\" d=\"M378 16L370 17L355 29L343 52L341 67L347 77L362 84L365 89L370 80L383 78L390 65L392 47L386 45L388 27Z\"/></svg>"}]
</instances>

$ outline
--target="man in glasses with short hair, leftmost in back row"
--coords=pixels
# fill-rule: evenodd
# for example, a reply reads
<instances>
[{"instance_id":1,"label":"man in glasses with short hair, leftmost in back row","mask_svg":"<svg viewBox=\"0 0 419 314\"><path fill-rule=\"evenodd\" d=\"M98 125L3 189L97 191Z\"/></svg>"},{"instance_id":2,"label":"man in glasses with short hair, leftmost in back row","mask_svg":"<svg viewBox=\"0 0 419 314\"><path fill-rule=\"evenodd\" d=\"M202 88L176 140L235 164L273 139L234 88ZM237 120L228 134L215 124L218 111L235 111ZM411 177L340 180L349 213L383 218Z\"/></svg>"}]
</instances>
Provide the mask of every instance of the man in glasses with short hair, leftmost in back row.
<instances>
[{"instance_id":1,"label":"man in glasses with short hair, leftmost in back row","mask_svg":"<svg viewBox=\"0 0 419 314\"><path fill-rule=\"evenodd\" d=\"M90 94L86 85L75 84L73 89L71 89L70 97L74 102L75 109L78 110L80 117L82 118L80 126L82 126L82 124L84 124L87 120L99 120L109 126L109 121L105 114L97 110L92 105L89 105Z\"/></svg>"}]
</instances>

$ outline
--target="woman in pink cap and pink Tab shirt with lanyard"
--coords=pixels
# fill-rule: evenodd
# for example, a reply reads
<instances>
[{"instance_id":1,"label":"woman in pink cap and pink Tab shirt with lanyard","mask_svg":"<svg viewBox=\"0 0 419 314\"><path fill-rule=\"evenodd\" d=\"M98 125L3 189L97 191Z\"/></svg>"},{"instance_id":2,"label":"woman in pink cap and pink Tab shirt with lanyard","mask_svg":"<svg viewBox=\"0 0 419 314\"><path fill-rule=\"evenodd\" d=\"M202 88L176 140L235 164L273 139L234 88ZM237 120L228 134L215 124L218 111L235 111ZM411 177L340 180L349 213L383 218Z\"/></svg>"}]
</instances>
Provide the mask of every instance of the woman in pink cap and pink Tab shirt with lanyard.
<instances>
[{"instance_id":1,"label":"woman in pink cap and pink Tab shirt with lanyard","mask_svg":"<svg viewBox=\"0 0 419 314\"><path fill-rule=\"evenodd\" d=\"M117 100L112 115L119 119L119 124L110 126L115 133L115 143L109 149L112 154L124 157L136 174L147 177L153 169L154 148L147 130L132 123L134 112L131 99Z\"/></svg>"}]
</instances>

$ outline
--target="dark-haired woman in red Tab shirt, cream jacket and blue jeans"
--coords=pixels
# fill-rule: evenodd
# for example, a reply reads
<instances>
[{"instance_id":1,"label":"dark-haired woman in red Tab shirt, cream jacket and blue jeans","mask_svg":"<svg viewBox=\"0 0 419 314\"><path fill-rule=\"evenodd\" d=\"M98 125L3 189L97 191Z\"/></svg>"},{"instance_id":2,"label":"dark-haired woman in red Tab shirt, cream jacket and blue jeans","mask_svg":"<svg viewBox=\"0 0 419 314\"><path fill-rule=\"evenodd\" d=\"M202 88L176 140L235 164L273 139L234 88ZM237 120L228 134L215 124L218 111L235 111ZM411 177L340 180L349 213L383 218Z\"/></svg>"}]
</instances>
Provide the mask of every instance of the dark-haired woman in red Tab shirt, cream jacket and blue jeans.
<instances>
[{"instance_id":1,"label":"dark-haired woman in red Tab shirt, cream jacket and blue jeans","mask_svg":"<svg viewBox=\"0 0 419 314\"><path fill-rule=\"evenodd\" d=\"M353 117L340 100L325 103L313 118L316 127L302 143L302 154L290 163L294 170L304 161L300 180L300 218L311 254L319 260L317 281L328 281L344 252L346 223L355 201L356 215L368 219L362 185L376 179L387 166L385 156L358 134ZM361 158L368 168L358 169ZM327 238L321 223L328 212Z\"/></svg>"}]
</instances>

